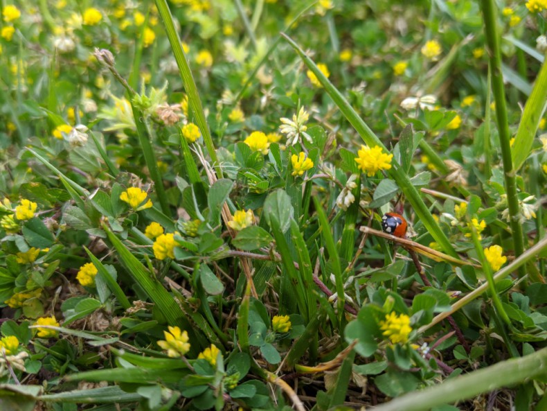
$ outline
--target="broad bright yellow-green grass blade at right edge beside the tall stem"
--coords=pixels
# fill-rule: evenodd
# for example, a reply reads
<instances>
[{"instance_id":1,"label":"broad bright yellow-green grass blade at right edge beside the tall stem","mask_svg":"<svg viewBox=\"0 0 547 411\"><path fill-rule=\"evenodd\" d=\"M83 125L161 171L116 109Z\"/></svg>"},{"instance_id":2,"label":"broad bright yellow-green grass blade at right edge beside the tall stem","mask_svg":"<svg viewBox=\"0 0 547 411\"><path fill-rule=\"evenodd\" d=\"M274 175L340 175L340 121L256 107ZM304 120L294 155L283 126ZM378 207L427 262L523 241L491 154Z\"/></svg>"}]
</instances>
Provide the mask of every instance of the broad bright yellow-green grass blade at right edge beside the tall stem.
<instances>
[{"instance_id":1,"label":"broad bright yellow-green grass blade at right edge beside the tall stem","mask_svg":"<svg viewBox=\"0 0 547 411\"><path fill-rule=\"evenodd\" d=\"M542 64L537 75L532 94L526 100L517 136L514 139L511 154L513 170L516 173L528 158L532 143L539 127L547 102L547 64Z\"/></svg>"}]
</instances>

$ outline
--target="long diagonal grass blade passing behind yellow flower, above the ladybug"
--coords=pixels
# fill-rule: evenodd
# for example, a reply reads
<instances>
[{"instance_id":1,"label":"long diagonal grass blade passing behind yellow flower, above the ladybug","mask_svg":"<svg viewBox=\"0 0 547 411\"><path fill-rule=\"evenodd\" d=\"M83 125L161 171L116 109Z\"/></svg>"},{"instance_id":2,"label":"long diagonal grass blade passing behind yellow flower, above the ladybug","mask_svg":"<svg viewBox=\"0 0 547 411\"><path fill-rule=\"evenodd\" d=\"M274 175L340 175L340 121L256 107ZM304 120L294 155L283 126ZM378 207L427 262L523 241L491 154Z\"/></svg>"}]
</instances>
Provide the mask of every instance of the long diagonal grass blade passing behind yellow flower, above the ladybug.
<instances>
[{"instance_id":1,"label":"long diagonal grass blade passing behind yellow flower, above the ladybug","mask_svg":"<svg viewBox=\"0 0 547 411\"><path fill-rule=\"evenodd\" d=\"M310 69L317 77L319 82L321 82L321 85L325 88L325 91L329 94L329 96L332 98L334 103L338 106L339 110L342 112L342 114L348 119L348 121L351 123L351 125L357 130L359 135L361 136L361 139L365 141L365 143L368 144L368 146L380 146L384 148L386 152L388 150L380 141L380 139L374 134L373 130L370 130L368 125L359 117L357 112L353 110L353 107L351 107L350 103L348 103L348 100L342 96L340 91L332 85L332 83L328 80L328 78L325 77L323 72L319 70L316 66L316 64L310 59L304 51L296 44L292 39L287 37L287 35L283 35L285 37L285 40L291 44L293 49L300 55L303 62L306 64L308 69ZM450 241L448 240L445 233L440 229L437 222L433 219L433 216L431 216L431 212L427 208L426 204L420 197L420 193L415 189L415 187L412 185L409 176L404 173L402 168L394 161L392 164L391 170L389 170L389 173L391 177L397 182L400 189L406 196L406 200L411 204L412 208L414 209L416 215L422 220L424 226L427 228L431 236L435 238L435 241L445 250L447 254L450 254L451 256L456 257L456 251L454 250L454 247L451 245Z\"/></svg>"}]
</instances>

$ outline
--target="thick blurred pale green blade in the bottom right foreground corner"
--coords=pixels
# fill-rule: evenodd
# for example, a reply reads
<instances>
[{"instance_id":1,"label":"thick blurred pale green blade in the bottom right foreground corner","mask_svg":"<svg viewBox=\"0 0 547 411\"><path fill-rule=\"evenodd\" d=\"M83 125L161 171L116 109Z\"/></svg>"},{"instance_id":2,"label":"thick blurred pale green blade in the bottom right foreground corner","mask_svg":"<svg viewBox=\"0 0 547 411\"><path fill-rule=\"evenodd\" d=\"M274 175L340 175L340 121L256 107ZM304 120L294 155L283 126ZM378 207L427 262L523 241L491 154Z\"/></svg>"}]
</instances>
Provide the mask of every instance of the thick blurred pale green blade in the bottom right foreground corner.
<instances>
[{"instance_id":1,"label":"thick blurred pale green blade in the bottom right foreground corner","mask_svg":"<svg viewBox=\"0 0 547 411\"><path fill-rule=\"evenodd\" d=\"M375 411L431 410L438 405L470 399L483 392L529 381L530 378L545 374L546 369L547 348L544 348L526 357L499 362L465 376L451 378L434 387L400 396L379 405Z\"/></svg>"}]
</instances>

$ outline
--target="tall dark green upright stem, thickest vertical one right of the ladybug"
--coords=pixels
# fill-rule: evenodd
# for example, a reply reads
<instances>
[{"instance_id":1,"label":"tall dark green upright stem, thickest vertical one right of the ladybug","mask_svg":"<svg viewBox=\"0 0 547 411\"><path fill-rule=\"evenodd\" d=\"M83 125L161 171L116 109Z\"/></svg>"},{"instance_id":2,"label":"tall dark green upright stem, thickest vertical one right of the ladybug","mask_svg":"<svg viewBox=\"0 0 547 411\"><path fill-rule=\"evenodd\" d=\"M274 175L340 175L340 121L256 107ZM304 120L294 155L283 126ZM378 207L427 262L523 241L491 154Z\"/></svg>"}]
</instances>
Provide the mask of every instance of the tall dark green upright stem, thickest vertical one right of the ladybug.
<instances>
[{"instance_id":1,"label":"tall dark green upright stem, thickest vertical one right of the ladybug","mask_svg":"<svg viewBox=\"0 0 547 411\"><path fill-rule=\"evenodd\" d=\"M517 183L509 143L511 135L505 105L505 86L503 85L503 74L501 73L501 49L494 7L494 0L481 0L490 67L492 67L492 91L494 91L494 100L496 101L496 120L505 176L505 192L507 193L514 254L518 257L524 252L523 231L522 225L519 223L519 199L517 198ZM519 268L519 277L525 275L526 268L521 266Z\"/></svg>"}]
</instances>

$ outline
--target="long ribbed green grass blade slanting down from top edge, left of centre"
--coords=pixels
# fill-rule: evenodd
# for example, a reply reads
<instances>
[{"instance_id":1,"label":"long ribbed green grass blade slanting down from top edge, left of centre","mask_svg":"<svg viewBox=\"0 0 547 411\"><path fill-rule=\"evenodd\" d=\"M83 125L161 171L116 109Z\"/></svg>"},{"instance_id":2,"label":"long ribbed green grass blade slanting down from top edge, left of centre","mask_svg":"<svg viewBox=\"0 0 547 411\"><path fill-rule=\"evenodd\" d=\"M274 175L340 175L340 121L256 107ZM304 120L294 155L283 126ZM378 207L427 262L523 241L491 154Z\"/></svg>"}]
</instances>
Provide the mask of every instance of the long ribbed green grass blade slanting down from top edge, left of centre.
<instances>
[{"instance_id":1,"label":"long ribbed green grass blade slanting down from top edge, left of centre","mask_svg":"<svg viewBox=\"0 0 547 411\"><path fill-rule=\"evenodd\" d=\"M222 178L222 169L220 168L217 159L217 153L215 152L213 139L211 139L207 120L205 119L201 98L199 98L197 92L196 83L192 76L192 71L190 70L190 64L188 64L188 59L182 49L179 33L177 33L177 30L174 28L173 17L169 10L167 0L156 0L156 7L158 8L159 15L163 21L163 26L165 27L165 33L167 33L167 37L171 44L174 60L177 61L184 89L186 89L186 94L188 94L188 105L190 105L192 109L199 131L204 138L205 146L209 152L210 159L213 161L217 176Z\"/></svg>"}]
</instances>

